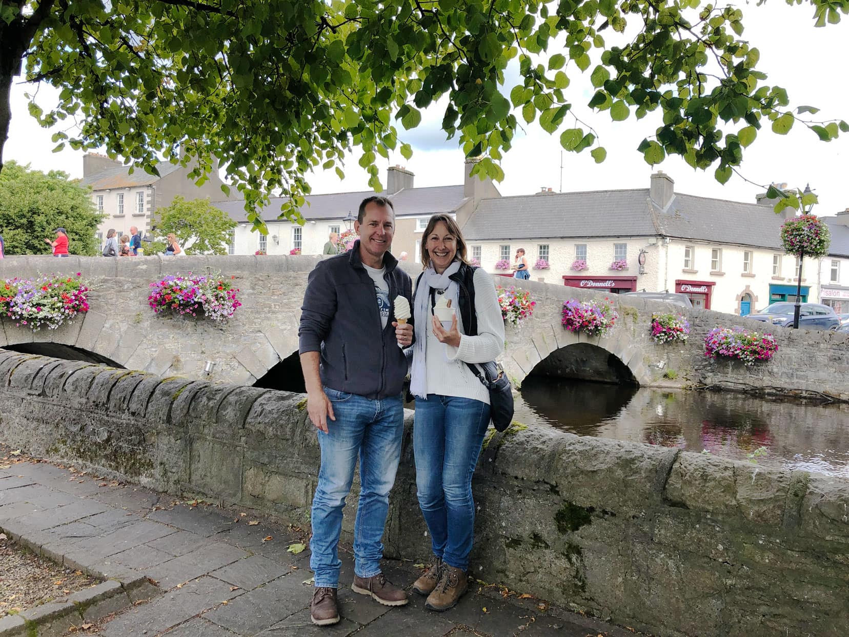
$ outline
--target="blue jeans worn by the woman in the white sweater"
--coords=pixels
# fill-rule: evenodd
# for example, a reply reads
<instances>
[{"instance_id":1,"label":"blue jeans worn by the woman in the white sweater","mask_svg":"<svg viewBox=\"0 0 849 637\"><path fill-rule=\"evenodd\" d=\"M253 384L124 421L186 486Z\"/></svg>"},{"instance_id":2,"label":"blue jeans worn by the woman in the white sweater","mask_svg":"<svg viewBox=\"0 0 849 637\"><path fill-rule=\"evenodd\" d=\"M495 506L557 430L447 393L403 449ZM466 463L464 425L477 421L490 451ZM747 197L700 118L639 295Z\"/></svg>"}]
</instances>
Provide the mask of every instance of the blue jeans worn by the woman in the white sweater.
<instances>
[{"instance_id":1,"label":"blue jeans worn by the woman in the white sweater","mask_svg":"<svg viewBox=\"0 0 849 637\"><path fill-rule=\"evenodd\" d=\"M475 537L475 473L489 405L472 398L428 394L416 399L413 451L419 507L433 553L449 566L469 568Z\"/></svg>"}]
</instances>

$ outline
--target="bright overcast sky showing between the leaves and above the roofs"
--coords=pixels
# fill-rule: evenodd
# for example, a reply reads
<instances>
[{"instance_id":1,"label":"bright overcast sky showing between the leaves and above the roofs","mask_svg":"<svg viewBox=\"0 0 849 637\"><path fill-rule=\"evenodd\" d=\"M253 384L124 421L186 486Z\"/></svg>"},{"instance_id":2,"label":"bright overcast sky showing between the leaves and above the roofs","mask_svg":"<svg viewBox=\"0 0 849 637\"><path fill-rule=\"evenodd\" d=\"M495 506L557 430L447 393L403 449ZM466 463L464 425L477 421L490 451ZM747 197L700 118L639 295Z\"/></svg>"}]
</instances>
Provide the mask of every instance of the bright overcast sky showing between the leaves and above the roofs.
<instances>
[{"instance_id":1,"label":"bright overcast sky showing between the leaves and above the roofs","mask_svg":"<svg viewBox=\"0 0 849 637\"><path fill-rule=\"evenodd\" d=\"M809 104L821 111L816 118L845 119L849 121L849 86L845 82L849 18L842 16L839 25L823 29L813 27L813 9L807 4L790 7L779 0L756 7L754 3L742 5L746 31L744 36L752 46L760 49L759 69L768 74L767 83L787 89L794 106ZM605 31L607 36L609 31ZM612 35L612 34L611 34ZM610 40L610 38L609 38ZM610 41L608 42L610 44ZM549 48L548 54L557 51ZM592 70L592 66L589 70ZM643 138L654 134L660 117L647 116L637 121L630 116L626 121L610 121L608 112L593 113L586 104L593 95L588 74L581 76L570 65L567 73L571 85L567 99L573 110L588 121L598 132L600 144L607 149L607 159L596 165L589 151L576 155L563 153L562 189L574 190L647 188L649 176L662 170L675 180L678 192L719 199L754 201L761 190L736 175L724 186L708 172L694 171L678 157L666 158L652 168L637 152ZM505 95L516 82L508 78ZM3 153L4 161L30 163L40 170L59 169L73 177L82 176L82 152L65 149L53 154L51 131L38 127L27 113L24 93L27 87L20 83L13 89L12 126ZM29 87L32 91L32 88ZM56 93L42 86L38 103L48 110L55 102ZM413 158L406 161L397 154L390 161L379 157L381 179L385 185L385 167L395 164L406 166L415 173L416 186L438 186L463 181L464 157L455 140L445 140L439 129L444 103L436 104L424 112L419 128L405 132L398 123L399 136L413 146ZM521 116L519 116L522 121ZM566 124L570 123L567 117ZM745 124L741 123L739 127ZM571 126L569 126L571 127ZM833 215L849 208L847 187L847 152L849 133L828 144L799 124L786 136L773 134L769 122L758 133L749 149L745 150L740 172L756 183L786 182L790 188L804 188L810 183L819 197L814 212ZM534 122L514 138L502 163L505 178L498 184L503 195L531 194L542 187L560 189L559 132L548 135ZM310 177L314 194L340 191L367 190L368 176L357 165L355 154L346 162L346 179L340 181L331 169Z\"/></svg>"}]
</instances>

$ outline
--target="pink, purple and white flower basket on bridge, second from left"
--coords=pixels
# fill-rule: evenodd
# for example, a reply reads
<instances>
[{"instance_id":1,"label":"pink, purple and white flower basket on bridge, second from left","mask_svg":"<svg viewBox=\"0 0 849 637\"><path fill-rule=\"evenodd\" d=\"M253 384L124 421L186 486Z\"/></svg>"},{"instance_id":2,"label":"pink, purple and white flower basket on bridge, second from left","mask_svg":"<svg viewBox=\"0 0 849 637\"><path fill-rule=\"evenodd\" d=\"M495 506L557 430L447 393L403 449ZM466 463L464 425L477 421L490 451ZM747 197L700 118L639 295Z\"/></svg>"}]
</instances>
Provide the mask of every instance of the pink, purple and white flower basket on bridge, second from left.
<instances>
[{"instance_id":1,"label":"pink, purple and white flower basket on bridge, second from left","mask_svg":"<svg viewBox=\"0 0 849 637\"><path fill-rule=\"evenodd\" d=\"M226 324L242 305L236 297L237 292L239 289L220 274L193 276L188 273L185 277L169 274L150 284L148 305L157 314L200 316Z\"/></svg>"}]
</instances>

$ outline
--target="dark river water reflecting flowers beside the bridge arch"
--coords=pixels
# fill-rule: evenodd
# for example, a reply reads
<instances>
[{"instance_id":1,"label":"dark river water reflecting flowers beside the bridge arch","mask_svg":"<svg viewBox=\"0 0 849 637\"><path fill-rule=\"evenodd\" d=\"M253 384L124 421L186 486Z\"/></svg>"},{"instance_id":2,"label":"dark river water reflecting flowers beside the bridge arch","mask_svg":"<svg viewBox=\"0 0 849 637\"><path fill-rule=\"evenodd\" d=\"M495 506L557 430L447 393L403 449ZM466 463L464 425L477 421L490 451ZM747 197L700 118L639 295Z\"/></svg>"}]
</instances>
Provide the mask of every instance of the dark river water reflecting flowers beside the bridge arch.
<instances>
[{"instance_id":1,"label":"dark river water reflecting flowers beside the bridge arch","mask_svg":"<svg viewBox=\"0 0 849 637\"><path fill-rule=\"evenodd\" d=\"M529 376L515 420L579 436L678 447L849 477L849 405Z\"/></svg>"}]
</instances>

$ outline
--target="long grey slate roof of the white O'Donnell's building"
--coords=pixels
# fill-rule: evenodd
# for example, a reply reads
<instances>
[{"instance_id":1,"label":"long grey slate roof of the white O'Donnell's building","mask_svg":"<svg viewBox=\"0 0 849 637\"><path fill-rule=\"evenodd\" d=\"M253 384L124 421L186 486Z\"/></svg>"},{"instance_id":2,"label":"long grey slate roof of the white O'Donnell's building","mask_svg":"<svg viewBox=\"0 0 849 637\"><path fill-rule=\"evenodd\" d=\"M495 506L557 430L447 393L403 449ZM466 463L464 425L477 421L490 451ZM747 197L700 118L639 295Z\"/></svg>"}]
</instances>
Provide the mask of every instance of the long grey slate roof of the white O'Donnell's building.
<instances>
[{"instance_id":1,"label":"long grey slate roof of the white O'Donnell's building","mask_svg":"<svg viewBox=\"0 0 849 637\"><path fill-rule=\"evenodd\" d=\"M667 236L780 248L783 217L772 206L675 194L661 211L649 189L528 194L481 201L466 240Z\"/></svg>"}]
</instances>

